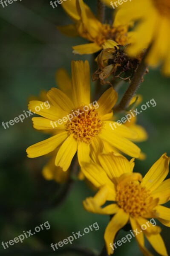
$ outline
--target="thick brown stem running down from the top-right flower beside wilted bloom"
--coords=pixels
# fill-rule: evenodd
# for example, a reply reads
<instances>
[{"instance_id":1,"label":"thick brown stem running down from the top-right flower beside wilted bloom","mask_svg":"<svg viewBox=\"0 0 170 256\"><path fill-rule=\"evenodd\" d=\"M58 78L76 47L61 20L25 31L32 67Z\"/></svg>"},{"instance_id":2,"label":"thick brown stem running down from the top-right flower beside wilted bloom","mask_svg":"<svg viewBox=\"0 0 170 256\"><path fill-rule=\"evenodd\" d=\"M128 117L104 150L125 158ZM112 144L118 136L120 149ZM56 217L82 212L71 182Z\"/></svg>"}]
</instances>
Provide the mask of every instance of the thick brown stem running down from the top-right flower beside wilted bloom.
<instances>
[{"instance_id":1,"label":"thick brown stem running down from the top-right flower beside wilted bloom","mask_svg":"<svg viewBox=\"0 0 170 256\"><path fill-rule=\"evenodd\" d=\"M135 96L147 69L147 64L145 63L145 60L149 50L150 47L148 47L147 51L145 52L141 64L139 64L138 69L133 76L133 80L130 83L130 86L128 87L127 91L124 93L121 102L115 106L114 112L125 111L129 106L131 99Z\"/></svg>"}]
</instances>

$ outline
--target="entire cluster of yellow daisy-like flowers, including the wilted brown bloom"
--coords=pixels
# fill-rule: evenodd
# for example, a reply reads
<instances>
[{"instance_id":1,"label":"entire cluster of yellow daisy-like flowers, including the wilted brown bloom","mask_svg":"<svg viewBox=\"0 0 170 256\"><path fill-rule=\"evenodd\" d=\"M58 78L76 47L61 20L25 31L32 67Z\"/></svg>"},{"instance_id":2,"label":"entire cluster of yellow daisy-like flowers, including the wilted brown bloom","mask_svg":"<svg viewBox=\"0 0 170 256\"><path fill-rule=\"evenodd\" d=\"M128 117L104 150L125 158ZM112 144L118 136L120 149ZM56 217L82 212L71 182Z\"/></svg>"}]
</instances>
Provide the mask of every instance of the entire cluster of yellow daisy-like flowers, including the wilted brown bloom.
<instances>
[{"instance_id":1,"label":"entire cluster of yellow daisy-like flowers, including the wilted brown bloom","mask_svg":"<svg viewBox=\"0 0 170 256\"><path fill-rule=\"evenodd\" d=\"M109 0L103 2L110 6ZM58 29L66 35L79 35L89 41L74 46L73 52L98 52L98 74L103 84L111 75L113 79L131 81L148 47L150 50L145 63L155 66L161 61L164 73L170 74L170 2L167 0L124 3L118 7L112 24L101 23L83 0L66 1L62 6L73 24L58 26ZM128 32L133 26L134 30ZM77 152L80 165L78 177L85 177L98 189L93 198L83 202L84 208L89 212L112 215L104 234L110 255L113 250L109 244L127 223L136 230L146 223L147 218L158 218L162 224L170 227L170 209L161 206L170 200L170 179L164 181L168 174L169 157L163 154L144 178L133 172L134 158L144 159L144 153L135 142L147 140L147 132L136 124L136 117L128 125L122 124L114 130L109 127L109 123L116 119L113 107L118 99L118 93L112 86L97 100L98 108L91 107L83 112L84 105L91 102L89 63L72 61L71 68L72 79L66 70L58 70L56 80L59 89L52 88L43 93L41 101L29 102L31 110L42 101L49 101L51 107L40 110L38 114L42 117L32 120L35 129L49 132L52 137L27 148L27 154L28 157L50 154L43 175L47 180L55 179L62 183L69 177L70 165ZM141 96L138 104L140 101ZM129 105L134 102L135 98L132 97ZM55 129L52 127L52 121L62 119L72 110L81 114ZM129 161L124 154L134 158ZM152 255L145 247L145 236L157 253L167 256L160 232L157 226L148 227L136 236L144 255Z\"/></svg>"}]
</instances>

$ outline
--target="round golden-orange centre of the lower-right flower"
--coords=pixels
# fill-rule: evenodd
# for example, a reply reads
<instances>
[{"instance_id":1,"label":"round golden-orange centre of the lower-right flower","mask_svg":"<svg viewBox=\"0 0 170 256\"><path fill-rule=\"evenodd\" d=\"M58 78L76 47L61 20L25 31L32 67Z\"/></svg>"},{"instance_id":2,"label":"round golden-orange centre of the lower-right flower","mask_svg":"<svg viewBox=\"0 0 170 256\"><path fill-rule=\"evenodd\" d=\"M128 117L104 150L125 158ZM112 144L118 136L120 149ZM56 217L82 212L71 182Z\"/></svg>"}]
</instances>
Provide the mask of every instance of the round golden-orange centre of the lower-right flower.
<instances>
[{"instance_id":1,"label":"round golden-orange centre of the lower-right flower","mask_svg":"<svg viewBox=\"0 0 170 256\"><path fill-rule=\"evenodd\" d=\"M145 215L150 205L150 193L138 181L118 186L116 201L119 207L133 217Z\"/></svg>"}]
</instances>

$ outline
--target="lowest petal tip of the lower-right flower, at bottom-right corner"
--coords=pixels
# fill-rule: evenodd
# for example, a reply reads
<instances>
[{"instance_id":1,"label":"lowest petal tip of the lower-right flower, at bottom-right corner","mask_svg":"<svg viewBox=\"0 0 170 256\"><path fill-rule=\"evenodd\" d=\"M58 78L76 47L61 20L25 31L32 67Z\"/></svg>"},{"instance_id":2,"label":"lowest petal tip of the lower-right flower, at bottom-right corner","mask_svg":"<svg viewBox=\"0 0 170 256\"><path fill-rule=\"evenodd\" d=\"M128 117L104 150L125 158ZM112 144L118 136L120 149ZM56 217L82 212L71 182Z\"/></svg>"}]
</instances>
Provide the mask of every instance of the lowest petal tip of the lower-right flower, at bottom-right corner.
<instances>
[{"instance_id":1,"label":"lowest petal tip of the lower-right flower, at bottom-right corner","mask_svg":"<svg viewBox=\"0 0 170 256\"><path fill-rule=\"evenodd\" d=\"M161 238L160 234L156 234L156 235L145 234L145 236L157 253L159 253L162 256L168 256L164 241Z\"/></svg>"}]
</instances>

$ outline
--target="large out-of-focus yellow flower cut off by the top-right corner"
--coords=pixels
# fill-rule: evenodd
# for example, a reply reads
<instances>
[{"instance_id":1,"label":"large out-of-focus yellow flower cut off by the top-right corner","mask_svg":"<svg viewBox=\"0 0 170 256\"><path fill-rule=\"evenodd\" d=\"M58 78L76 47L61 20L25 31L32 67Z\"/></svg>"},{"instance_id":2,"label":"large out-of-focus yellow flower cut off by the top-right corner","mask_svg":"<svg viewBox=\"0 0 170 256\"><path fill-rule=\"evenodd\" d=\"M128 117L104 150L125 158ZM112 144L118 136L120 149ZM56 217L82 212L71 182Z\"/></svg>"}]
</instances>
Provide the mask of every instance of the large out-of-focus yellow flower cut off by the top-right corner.
<instances>
[{"instance_id":1,"label":"large out-of-focus yellow flower cut off by the top-right corner","mask_svg":"<svg viewBox=\"0 0 170 256\"><path fill-rule=\"evenodd\" d=\"M104 0L110 5L109 0ZM130 55L139 53L142 48L152 47L147 63L155 67L163 63L163 72L170 75L170 1L169 0L133 0L118 7L115 26L127 24L130 20L139 21L135 28L135 42L130 47Z\"/></svg>"}]
</instances>

